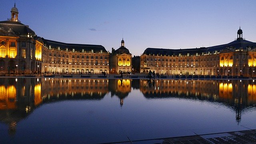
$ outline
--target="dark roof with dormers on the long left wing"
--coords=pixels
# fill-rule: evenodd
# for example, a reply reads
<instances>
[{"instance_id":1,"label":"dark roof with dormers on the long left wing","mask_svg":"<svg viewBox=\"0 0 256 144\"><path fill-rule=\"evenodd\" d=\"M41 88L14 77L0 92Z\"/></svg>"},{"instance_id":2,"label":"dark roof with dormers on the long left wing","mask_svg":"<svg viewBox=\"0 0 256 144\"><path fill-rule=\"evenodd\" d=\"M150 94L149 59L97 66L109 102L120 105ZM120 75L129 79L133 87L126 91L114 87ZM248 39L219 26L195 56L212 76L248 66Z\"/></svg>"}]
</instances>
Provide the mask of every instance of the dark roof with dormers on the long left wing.
<instances>
[{"instance_id":1,"label":"dark roof with dormers on the long left wing","mask_svg":"<svg viewBox=\"0 0 256 144\"><path fill-rule=\"evenodd\" d=\"M85 52L91 52L91 50L93 50L94 53L99 53L102 50L102 53L108 53L106 51L106 49L104 48L104 46L101 46L101 45L93 45L93 44L68 44L68 43L64 43L64 42L57 42L57 41L53 41L53 40L46 40L44 38L42 38L42 41L44 42L44 44L47 47L49 47L49 46L51 46L51 48L60 47L60 50L66 50L66 48L68 48L68 50L73 50L73 48L74 48L76 52L82 52L82 49L84 49Z\"/></svg>"}]
</instances>

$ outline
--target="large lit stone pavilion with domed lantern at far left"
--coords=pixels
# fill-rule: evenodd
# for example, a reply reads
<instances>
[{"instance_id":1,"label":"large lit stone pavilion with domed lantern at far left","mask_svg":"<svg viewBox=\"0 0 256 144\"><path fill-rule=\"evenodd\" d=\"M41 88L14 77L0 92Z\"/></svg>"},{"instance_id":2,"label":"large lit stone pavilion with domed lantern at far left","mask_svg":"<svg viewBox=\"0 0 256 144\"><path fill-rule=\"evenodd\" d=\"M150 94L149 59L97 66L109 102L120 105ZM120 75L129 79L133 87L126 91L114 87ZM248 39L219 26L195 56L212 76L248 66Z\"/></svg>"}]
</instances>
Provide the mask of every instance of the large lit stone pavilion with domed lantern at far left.
<instances>
[{"instance_id":1,"label":"large lit stone pavilion with domed lantern at far left","mask_svg":"<svg viewBox=\"0 0 256 144\"><path fill-rule=\"evenodd\" d=\"M41 68L42 41L18 20L14 4L11 18L0 22L0 73L30 73Z\"/></svg>"}]
</instances>

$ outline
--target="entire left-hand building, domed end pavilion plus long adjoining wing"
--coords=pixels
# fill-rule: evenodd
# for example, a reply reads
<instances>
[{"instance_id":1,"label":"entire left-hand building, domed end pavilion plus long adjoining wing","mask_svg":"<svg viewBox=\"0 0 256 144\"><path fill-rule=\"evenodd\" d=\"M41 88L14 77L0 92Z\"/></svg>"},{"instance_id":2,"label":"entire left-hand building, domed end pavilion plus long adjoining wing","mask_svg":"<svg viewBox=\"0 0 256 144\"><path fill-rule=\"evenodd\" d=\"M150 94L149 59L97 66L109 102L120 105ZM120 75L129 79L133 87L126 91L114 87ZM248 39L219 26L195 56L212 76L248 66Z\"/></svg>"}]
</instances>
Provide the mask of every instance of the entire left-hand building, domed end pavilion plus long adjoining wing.
<instances>
[{"instance_id":1,"label":"entire left-hand building, domed end pavilion plus long adjoining wing","mask_svg":"<svg viewBox=\"0 0 256 144\"><path fill-rule=\"evenodd\" d=\"M11 19L0 22L0 73L109 72L109 52L101 45L67 44L38 37L18 20L14 4Z\"/></svg>"}]
</instances>

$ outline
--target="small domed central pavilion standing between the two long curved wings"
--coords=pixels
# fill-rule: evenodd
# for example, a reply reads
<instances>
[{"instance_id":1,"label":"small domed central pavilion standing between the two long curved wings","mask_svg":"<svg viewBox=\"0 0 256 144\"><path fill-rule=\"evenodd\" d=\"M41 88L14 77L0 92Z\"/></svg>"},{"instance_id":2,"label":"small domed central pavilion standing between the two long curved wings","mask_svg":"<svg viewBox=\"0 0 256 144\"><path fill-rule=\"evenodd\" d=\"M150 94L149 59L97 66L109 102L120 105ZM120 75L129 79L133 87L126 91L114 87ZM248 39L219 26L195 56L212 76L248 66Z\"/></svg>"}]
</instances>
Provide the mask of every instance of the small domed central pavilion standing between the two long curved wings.
<instances>
[{"instance_id":1,"label":"small domed central pavilion standing between the two long curved wings","mask_svg":"<svg viewBox=\"0 0 256 144\"><path fill-rule=\"evenodd\" d=\"M132 54L124 46L124 39L121 41L121 46L117 50L112 48L109 56L110 73L131 72L132 70Z\"/></svg>"}]
</instances>

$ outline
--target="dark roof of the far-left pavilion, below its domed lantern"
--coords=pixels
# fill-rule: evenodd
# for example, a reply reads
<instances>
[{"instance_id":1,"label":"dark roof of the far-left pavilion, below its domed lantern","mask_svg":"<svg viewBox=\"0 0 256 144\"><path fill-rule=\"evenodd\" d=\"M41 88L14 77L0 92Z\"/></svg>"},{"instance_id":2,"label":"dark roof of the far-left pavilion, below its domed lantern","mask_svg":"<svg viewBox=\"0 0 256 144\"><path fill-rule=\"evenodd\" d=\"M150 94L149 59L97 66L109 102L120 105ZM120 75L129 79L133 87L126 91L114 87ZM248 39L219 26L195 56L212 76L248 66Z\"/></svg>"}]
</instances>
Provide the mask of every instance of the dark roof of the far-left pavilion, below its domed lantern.
<instances>
[{"instance_id":1,"label":"dark roof of the far-left pavilion, below its domed lantern","mask_svg":"<svg viewBox=\"0 0 256 144\"><path fill-rule=\"evenodd\" d=\"M20 23L20 22L13 22L13 21L1 21L0 27L2 27L4 30L9 31L13 34L18 35L28 35L28 33L34 35L35 32L31 30L28 26ZM11 28L11 31L10 31Z\"/></svg>"}]
</instances>

